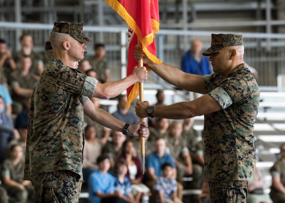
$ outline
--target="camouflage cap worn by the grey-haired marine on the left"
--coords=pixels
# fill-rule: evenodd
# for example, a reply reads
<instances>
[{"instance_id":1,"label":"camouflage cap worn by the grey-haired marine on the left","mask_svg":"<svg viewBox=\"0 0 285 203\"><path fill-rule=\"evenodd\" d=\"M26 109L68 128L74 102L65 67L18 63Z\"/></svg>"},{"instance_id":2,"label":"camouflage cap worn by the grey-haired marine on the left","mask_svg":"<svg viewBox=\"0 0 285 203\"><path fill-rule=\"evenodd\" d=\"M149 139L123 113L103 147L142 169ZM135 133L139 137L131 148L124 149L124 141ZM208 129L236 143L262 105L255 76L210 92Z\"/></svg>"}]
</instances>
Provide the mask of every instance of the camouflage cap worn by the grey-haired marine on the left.
<instances>
[{"instance_id":1,"label":"camouflage cap worn by the grey-haired marine on the left","mask_svg":"<svg viewBox=\"0 0 285 203\"><path fill-rule=\"evenodd\" d=\"M70 34L70 36L79 42L91 42L91 40L83 34L82 28L83 22L54 22L52 32Z\"/></svg>"}]
</instances>

